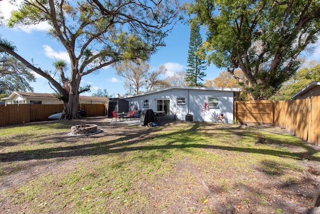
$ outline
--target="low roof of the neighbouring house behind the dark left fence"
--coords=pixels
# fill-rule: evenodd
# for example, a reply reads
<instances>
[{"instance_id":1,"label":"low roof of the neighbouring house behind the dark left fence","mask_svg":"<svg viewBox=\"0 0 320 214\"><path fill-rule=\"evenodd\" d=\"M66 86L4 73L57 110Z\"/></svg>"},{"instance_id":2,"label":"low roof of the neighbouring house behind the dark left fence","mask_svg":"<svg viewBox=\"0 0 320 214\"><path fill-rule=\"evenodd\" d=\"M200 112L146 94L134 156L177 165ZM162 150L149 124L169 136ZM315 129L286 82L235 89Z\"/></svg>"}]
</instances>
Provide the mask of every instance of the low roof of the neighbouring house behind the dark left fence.
<instances>
[{"instance_id":1,"label":"low roof of the neighbouring house behind the dark left fence","mask_svg":"<svg viewBox=\"0 0 320 214\"><path fill-rule=\"evenodd\" d=\"M41 97L41 98L51 98L56 99L54 93L33 93L33 92L24 92L24 91L13 91L8 97L3 99L10 99L14 95L18 95L20 97ZM107 97L97 97L97 96L79 96L79 100L96 100L96 101L107 101Z\"/></svg>"}]
</instances>

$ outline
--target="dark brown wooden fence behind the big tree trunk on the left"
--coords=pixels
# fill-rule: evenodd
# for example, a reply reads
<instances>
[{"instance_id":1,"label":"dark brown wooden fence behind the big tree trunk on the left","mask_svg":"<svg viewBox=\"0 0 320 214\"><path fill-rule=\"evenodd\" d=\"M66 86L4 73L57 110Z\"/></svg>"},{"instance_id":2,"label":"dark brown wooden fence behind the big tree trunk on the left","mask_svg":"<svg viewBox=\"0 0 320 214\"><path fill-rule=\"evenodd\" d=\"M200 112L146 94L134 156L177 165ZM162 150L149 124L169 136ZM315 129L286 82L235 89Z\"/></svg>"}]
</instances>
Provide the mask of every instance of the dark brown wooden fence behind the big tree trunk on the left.
<instances>
[{"instance_id":1,"label":"dark brown wooden fence behind the big tree trunk on the left","mask_svg":"<svg viewBox=\"0 0 320 214\"><path fill-rule=\"evenodd\" d=\"M106 115L106 104L79 104L85 116ZM54 112L62 112L63 104L8 104L0 105L0 125L48 120Z\"/></svg>"}]
</instances>

